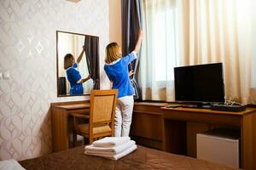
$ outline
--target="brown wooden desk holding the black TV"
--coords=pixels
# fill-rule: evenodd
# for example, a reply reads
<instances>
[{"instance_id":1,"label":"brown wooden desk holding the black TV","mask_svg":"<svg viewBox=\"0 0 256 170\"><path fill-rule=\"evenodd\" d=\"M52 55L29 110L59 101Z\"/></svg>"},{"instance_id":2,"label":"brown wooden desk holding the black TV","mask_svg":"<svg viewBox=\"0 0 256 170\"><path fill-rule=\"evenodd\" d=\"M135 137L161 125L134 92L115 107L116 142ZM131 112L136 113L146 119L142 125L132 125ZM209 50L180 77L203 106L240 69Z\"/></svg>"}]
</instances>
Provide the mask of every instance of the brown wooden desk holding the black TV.
<instances>
[{"instance_id":1,"label":"brown wooden desk holding the black TV","mask_svg":"<svg viewBox=\"0 0 256 170\"><path fill-rule=\"evenodd\" d=\"M187 154L188 122L202 122L241 129L241 167L256 169L256 109L228 112L207 109L161 108L163 110L163 149ZM191 132L191 131L189 131ZM195 133L194 133L195 136Z\"/></svg>"}]
</instances>

